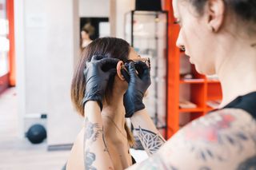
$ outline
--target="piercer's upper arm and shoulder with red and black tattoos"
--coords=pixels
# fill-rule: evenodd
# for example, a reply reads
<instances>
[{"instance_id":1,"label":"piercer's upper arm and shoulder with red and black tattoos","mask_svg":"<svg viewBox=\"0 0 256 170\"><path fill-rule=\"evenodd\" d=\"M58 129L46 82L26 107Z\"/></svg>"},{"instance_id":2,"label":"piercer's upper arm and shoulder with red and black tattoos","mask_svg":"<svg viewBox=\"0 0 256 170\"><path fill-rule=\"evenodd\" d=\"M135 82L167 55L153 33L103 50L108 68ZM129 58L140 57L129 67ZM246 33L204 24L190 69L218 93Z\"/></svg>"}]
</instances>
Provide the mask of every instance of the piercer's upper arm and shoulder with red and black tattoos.
<instances>
[{"instance_id":1,"label":"piercer's upper arm and shoulder with red and black tattoos","mask_svg":"<svg viewBox=\"0 0 256 170\"><path fill-rule=\"evenodd\" d=\"M129 169L256 169L256 121L241 109L210 113Z\"/></svg>"}]
</instances>

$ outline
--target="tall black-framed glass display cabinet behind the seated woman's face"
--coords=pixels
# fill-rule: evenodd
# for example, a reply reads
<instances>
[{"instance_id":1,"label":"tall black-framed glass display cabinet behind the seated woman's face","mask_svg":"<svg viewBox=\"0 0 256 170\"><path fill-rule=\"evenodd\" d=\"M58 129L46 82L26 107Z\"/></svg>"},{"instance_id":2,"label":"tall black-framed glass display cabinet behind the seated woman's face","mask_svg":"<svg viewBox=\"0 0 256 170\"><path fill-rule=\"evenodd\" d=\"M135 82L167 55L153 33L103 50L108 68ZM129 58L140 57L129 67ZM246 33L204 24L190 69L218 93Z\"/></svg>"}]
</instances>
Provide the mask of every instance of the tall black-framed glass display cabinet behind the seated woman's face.
<instances>
[{"instance_id":1,"label":"tall black-framed glass display cabinet behind the seated woman's face","mask_svg":"<svg viewBox=\"0 0 256 170\"><path fill-rule=\"evenodd\" d=\"M125 38L141 57L150 58L151 85L144 98L147 112L166 136L167 18L166 11L132 10L125 16Z\"/></svg>"}]
</instances>

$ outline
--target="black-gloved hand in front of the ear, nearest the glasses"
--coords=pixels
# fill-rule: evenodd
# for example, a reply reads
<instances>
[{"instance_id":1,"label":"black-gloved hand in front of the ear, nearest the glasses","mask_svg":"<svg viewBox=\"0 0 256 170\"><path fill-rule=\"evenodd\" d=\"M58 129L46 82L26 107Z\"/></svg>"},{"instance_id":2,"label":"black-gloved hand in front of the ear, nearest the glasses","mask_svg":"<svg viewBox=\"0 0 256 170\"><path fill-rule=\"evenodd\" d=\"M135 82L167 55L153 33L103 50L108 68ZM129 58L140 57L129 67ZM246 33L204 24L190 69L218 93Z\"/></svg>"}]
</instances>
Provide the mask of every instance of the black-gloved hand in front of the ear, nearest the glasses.
<instances>
[{"instance_id":1,"label":"black-gloved hand in front of the ear, nearest the glasses","mask_svg":"<svg viewBox=\"0 0 256 170\"><path fill-rule=\"evenodd\" d=\"M148 89L151 84L150 68L142 61L136 62L135 65L134 62L130 62L128 71L130 81L123 97L123 103L126 109L126 117L132 117L135 112L145 108L142 99L146 89Z\"/></svg>"}]
</instances>

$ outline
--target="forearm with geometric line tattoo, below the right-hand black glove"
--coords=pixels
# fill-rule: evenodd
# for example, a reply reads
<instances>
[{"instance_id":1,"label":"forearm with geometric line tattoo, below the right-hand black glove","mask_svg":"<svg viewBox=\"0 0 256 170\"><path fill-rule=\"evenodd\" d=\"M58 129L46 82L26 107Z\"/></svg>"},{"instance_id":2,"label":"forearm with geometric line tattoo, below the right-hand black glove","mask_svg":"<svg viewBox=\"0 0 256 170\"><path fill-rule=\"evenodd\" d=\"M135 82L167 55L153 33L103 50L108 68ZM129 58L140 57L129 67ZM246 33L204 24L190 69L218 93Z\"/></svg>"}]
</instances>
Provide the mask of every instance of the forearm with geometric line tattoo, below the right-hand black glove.
<instances>
[{"instance_id":1,"label":"forearm with geometric line tattoo, below the right-hand black glove","mask_svg":"<svg viewBox=\"0 0 256 170\"><path fill-rule=\"evenodd\" d=\"M150 156L166 142L162 135L158 132L150 116L146 113L146 109L139 110L130 117L130 121L134 126L135 132L141 140L142 146L146 153Z\"/></svg>"}]
</instances>

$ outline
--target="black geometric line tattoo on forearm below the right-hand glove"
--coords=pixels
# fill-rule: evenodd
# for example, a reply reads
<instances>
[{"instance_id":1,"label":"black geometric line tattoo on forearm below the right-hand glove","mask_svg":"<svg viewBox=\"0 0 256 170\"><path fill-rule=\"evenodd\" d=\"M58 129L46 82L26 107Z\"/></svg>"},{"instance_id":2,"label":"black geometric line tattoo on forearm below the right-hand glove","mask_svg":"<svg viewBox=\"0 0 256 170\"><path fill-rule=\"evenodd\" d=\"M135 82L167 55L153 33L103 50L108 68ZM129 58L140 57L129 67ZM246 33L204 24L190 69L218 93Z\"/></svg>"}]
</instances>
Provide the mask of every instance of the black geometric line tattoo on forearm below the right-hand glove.
<instances>
[{"instance_id":1,"label":"black geometric line tattoo on forearm below the right-hand glove","mask_svg":"<svg viewBox=\"0 0 256 170\"><path fill-rule=\"evenodd\" d=\"M135 128L136 132L138 132L138 138L142 142L142 146L150 155L154 152L157 152L158 149L165 143L165 140L162 139L162 136L151 132L149 130L143 129L140 126Z\"/></svg>"}]
</instances>

